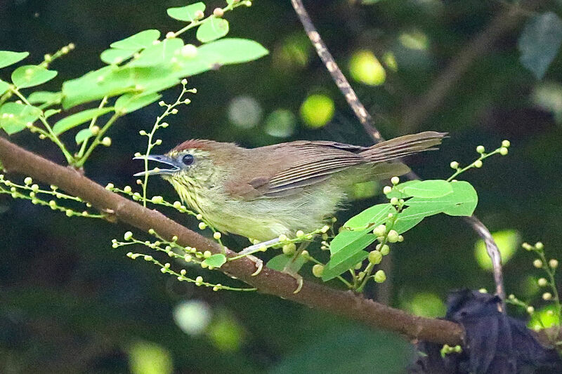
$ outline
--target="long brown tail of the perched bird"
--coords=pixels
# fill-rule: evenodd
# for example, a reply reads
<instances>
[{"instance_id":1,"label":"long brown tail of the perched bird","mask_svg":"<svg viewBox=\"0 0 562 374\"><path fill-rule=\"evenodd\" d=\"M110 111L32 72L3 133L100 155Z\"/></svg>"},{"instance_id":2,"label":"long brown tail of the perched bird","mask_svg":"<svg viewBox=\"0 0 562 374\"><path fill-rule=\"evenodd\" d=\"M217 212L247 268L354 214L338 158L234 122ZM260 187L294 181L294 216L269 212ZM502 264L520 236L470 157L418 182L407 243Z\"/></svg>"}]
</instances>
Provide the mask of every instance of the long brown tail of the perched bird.
<instances>
[{"instance_id":1,"label":"long brown tail of the perched bird","mask_svg":"<svg viewBox=\"0 0 562 374\"><path fill-rule=\"evenodd\" d=\"M373 145L360 152L360 155L372 162L390 161L408 154L437 149L435 146L440 145L441 140L446 136L447 133L437 133L436 131L404 135Z\"/></svg>"}]
</instances>

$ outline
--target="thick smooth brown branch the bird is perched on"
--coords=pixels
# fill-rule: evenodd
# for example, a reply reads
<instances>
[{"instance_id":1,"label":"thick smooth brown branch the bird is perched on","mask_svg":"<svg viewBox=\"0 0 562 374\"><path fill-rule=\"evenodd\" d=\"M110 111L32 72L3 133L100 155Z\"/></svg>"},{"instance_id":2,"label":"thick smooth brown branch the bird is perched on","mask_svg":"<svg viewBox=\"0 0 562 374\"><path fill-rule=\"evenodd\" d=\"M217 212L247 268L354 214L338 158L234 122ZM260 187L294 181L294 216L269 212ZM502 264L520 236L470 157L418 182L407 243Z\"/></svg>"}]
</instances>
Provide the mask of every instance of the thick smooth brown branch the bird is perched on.
<instances>
[{"instance_id":1,"label":"thick smooth brown branch the bird is perched on","mask_svg":"<svg viewBox=\"0 0 562 374\"><path fill-rule=\"evenodd\" d=\"M192 232L166 218L162 213L143 208L134 201L108 191L77 171L28 152L4 138L0 138L0 162L6 171L30 175L89 201L100 211L113 211L118 220L143 232L152 228L167 239L178 236L178 243L182 246L196 247L200 251L221 252L221 247L215 241ZM228 251L227 254L235 255L233 251ZM258 288L261 293L280 296L308 307L346 316L368 326L395 331L411 340L429 340L449 345L462 343L463 329L456 323L412 316L362 298L351 291L335 290L310 281L305 281L301 292L294 294L296 283L292 276L267 267L257 276L251 276L255 270L254 262L248 258L226 262L221 267L221 271Z\"/></svg>"}]
</instances>

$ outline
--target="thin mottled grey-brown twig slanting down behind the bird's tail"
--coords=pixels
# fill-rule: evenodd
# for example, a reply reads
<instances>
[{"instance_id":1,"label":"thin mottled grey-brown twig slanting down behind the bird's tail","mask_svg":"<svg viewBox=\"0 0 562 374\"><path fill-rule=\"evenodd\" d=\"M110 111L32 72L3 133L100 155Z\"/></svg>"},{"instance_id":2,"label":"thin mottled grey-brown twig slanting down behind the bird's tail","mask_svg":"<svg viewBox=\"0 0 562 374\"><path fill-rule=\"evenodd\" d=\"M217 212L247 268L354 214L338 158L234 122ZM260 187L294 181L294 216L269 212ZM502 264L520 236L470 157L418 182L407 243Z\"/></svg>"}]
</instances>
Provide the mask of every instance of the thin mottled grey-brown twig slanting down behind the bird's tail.
<instances>
[{"instance_id":1,"label":"thin mottled grey-brown twig slanting down behind the bird's tail","mask_svg":"<svg viewBox=\"0 0 562 374\"><path fill-rule=\"evenodd\" d=\"M381 133L375 128L374 121L367 110L359 101L355 91L351 88L351 85L347 81L344 74L339 69L338 65L336 64L332 54L329 53L327 50L326 44L322 41L320 34L314 27L314 24L306 12L306 9L303 6L301 0L291 0L293 8L297 15L299 15L299 19L303 24L303 27L308 35L308 38L311 39L312 44L316 48L316 52L324 62L326 69L330 75L332 75L332 79L339 87L341 93L344 94L348 104L355 112L355 115L358 117L359 121L361 122L363 128L367 134L371 135L372 140L374 142L381 142L384 141L382 138ZM497 26L496 26L497 27ZM415 173L411 172L408 174L409 178L412 179L420 179ZM497 248L497 244L495 243L492 234L490 231L483 225L483 223L476 218L475 215L466 218L466 222L469 222L471 227L478 233L479 236L484 240L486 244L486 251L488 251L488 255L492 260L492 265L494 269L494 281L496 285L496 293L499 298L502 300L502 305L499 306L501 312L505 312L505 290L504 290L504 283L503 283L503 275L502 275L502 258L499 253L499 248Z\"/></svg>"}]
</instances>

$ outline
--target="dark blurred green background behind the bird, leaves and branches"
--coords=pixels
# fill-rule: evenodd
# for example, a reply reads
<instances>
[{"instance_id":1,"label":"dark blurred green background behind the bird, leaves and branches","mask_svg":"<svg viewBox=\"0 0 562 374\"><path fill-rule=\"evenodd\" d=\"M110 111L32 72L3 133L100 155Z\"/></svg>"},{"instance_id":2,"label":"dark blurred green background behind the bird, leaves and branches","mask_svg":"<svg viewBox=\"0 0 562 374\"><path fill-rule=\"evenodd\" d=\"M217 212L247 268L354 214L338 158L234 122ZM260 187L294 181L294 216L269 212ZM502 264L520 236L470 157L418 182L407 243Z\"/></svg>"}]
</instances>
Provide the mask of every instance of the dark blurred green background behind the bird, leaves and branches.
<instances>
[{"instance_id":1,"label":"dark blurred green background behind the bird, leaves and branches","mask_svg":"<svg viewBox=\"0 0 562 374\"><path fill-rule=\"evenodd\" d=\"M46 88L55 91L63 80L102 67L98 56L112 41L143 29L163 33L179 29L181 24L166 16L166 8L184 4L4 0L0 49L30 51L31 60L39 62L44 53L74 42L76 50L52 65L59 76ZM556 4L547 6L552 9ZM496 156L481 170L463 175L480 196L476 214L492 232L514 230L519 243L542 240L552 257L561 253L562 128L551 111L536 104L533 93L545 84L554 87L552 100L558 100L561 111L562 65L558 56L543 81L521 65L516 43L525 19L490 53L476 59L429 119L404 128L401 119L408 105L426 92L495 14L504 11L504 5L476 0L388 0L369 6L337 0L306 5L348 76L348 62L356 51L372 51L379 58L388 51L396 55L398 71L386 69L383 86L351 80L386 138L426 130L450 133L438 152L408 160L422 178L447 178L452 173L450 161L472 161L476 145L494 149L504 138L511 140L509 156ZM207 1L208 11L215 6L223 4ZM259 41L270 55L190 78L189 85L198 93L191 97L191 105L169 118L170 128L159 131L164 141L159 150L165 152L187 138L234 141L247 147L294 139L370 144L308 44L288 0L259 0L227 18L229 36ZM194 34L185 34L184 40L195 42ZM405 34L417 35L418 40L423 36L427 48L407 48L400 42ZM0 76L7 79L9 71ZM318 129L308 128L299 115L303 100L313 93L329 96L336 107L332 121ZM164 98L171 101L176 95L172 89ZM240 97L258 105L255 126L243 128L231 121L229 108ZM233 108L242 110L242 116L256 114L251 106L244 112L248 106L238 103ZM266 132L268 115L276 109L294 114L294 132L286 138ZM145 148L138 131L152 128L160 110L151 105L120 119L109 133L112 147L96 150L86 164L86 175L102 185L134 185L132 174L142 166L131 157ZM64 161L54 145L25 131L11 140ZM71 136L65 140L73 143ZM10 175L13 180L21 177ZM154 178L150 188L152 194L174 201L165 182ZM353 203L341 219L380 199L373 196ZM195 227L195 222L187 222ZM400 373L410 360L412 348L389 333L268 295L214 293L178 283L157 267L126 258L128 248L111 248L111 239L121 238L128 229L100 220L69 219L0 196L0 373ZM475 259L477 240L460 219L429 218L393 249L390 281L372 285L367 294L390 295L391 305L410 312L443 315L448 290L493 289L490 272ZM231 247L244 245L236 238L227 241ZM540 273L532 268L529 253L511 248L516 253L504 267L507 292L536 302L538 309L535 279ZM303 270L306 277L309 269ZM218 272L202 275L209 281L239 284ZM185 312L184 322L203 328L199 334L185 333L174 321L174 311L180 310ZM208 325L197 322L201 316L209 317Z\"/></svg>"}]
</instances>

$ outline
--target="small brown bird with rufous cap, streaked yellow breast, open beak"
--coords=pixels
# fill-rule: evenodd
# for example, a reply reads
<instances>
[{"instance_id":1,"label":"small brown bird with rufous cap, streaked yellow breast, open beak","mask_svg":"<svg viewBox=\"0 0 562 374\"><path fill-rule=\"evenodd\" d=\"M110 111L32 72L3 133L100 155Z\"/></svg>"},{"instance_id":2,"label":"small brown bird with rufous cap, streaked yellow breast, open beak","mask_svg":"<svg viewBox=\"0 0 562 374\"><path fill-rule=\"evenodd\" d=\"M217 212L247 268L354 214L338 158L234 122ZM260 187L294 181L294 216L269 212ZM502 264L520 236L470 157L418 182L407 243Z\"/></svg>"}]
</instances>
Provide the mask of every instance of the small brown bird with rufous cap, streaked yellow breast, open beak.
<instances>
[{"instance_id":1,"label":"small brown bird with rufous cap, streaked yellow breast, open beak","mask_svg":"<svg viewBox=\"0 0 562 374\"><path fill-rule=\"evenodd\" d=\"M322 227L353 185L408 173L396 160L436 149L446 135L426 131L371 147L297 140L251 149L192 139L166 154L136 157L162 167L135 175L160 175L220 232L268 241Z\"/></svg>"}]
</instances>

